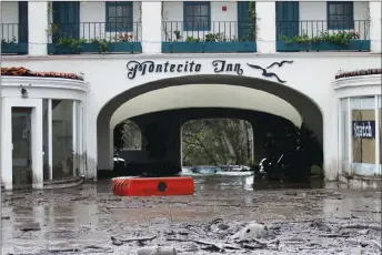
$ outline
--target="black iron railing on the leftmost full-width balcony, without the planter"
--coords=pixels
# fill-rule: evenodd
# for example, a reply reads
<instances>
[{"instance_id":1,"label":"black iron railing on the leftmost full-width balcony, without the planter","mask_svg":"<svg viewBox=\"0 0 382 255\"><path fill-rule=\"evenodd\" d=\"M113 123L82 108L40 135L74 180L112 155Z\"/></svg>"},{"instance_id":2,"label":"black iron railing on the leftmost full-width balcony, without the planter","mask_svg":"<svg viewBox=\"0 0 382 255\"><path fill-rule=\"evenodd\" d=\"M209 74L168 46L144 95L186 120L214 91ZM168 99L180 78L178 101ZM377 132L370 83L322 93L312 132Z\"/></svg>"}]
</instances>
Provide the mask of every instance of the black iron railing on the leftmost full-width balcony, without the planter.
<instances>
[{"instance_id":1,"label":"black iron railing on the leftmost full-width balcony, without the planter","mask_svg":"<svg viewBox=\"0 0 382 255\"><path fill-rule=\"evenodd\" d=\"M140 22L50 23L48 42L57 42L60 38L82 39L89 42L101 39L114 42L139 42L141 31Z\"/></svg>"}]
</instances>

